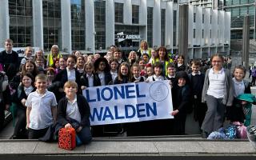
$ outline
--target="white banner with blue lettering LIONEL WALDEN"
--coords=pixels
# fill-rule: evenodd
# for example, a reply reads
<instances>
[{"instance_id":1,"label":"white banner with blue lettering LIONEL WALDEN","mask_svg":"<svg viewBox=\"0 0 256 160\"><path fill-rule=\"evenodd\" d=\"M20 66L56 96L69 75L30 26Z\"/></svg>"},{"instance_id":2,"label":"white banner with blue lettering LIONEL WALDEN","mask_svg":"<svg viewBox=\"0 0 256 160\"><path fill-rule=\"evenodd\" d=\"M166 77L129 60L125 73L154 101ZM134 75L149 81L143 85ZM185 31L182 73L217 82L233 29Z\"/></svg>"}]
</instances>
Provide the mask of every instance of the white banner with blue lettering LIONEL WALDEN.
<instances>
[{"instance_id":1,"label":"white banner with blue lettering LIONEL WALDEN","mask_svg":"<svg viewBox=\"0 0 256 160\"><path fill-rule=\"evenodd\" d=\"M168 80L95 86L82 94L90 104L92 126L173 118Z\"/></svg>"}]
</instances>

